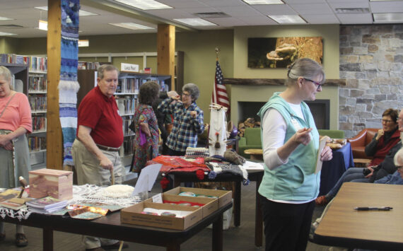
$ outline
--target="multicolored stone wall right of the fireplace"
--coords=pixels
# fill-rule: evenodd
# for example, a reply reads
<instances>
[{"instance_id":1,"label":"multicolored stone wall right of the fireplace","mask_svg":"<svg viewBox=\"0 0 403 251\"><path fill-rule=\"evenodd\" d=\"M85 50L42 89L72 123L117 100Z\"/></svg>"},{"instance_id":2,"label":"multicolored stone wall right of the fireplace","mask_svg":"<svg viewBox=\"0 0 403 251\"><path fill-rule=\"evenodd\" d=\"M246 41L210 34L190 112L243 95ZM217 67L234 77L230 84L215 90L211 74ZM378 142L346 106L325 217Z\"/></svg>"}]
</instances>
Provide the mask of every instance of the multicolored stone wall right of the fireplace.
<instances>
[{"instance_id":1,"label":"multicolored stone wall right of the fireplace","mask_svg":"<svg viewBox=\"0 0 403 251\"><path fill-rule=\"evenodd\" d=\"M339 129L346 138L381 128L382 112L403 109L403 25L341 25Z\"/></svg>"}]
</instances>

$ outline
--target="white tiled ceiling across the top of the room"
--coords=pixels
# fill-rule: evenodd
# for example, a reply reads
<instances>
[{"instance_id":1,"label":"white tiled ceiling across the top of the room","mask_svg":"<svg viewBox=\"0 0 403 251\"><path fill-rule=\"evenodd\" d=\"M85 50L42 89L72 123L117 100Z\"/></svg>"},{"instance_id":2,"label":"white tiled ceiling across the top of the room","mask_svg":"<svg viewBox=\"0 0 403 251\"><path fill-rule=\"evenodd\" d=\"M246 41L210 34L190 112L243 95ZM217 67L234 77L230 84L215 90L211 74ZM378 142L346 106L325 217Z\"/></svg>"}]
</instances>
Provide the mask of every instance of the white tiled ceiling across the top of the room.
<instances>
[{"instance_id":1,"label":"white tiled ceiling across the top of the room","mask_svg":"<svg viewBox=\"0 0 403 251\"><path fill-rule=\"evenodd\" d=\"M80 35L156 33L158 23L170 23L177 31L230 29L245 25L279 25L267 15L299 15L308 24L372 24L372 13L403 13L403 0L283 0L284 4L248 5L241 0L158 0L170 9L141 11L113 0L81 0L81 9L98 16L80 17ZM0 32L15 33L13 37L46 37L38 30L38 20L47 20L47 11L33 8L47 6L47 0L0 0L0 16L13 18L0 21ZM335 8L368 8L369 13L336 13ZM191 27L174 18L195 18L194 13L223 12L227 17L204 18L216 26ZM108 23L133 22L154 30L128 30ZM4 25L21 25L8 28Z\"/></svg>"}]
</instances>

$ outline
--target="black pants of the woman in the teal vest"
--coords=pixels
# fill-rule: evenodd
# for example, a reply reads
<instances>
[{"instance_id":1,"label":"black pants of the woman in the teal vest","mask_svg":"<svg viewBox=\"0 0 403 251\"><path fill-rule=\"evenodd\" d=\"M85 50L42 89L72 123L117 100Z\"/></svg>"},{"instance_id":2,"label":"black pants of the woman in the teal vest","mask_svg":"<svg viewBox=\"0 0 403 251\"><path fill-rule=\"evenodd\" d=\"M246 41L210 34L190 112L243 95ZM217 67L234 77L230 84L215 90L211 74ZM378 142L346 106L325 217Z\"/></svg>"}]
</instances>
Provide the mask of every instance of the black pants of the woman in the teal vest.
<instances>
[{"instance_id":1,"label":"black pants of the woman in the teal vest","mask_svg":"<svg viewBox=\"0 0 403 251\"><path fill-rule=\"evenodd\" d=\"M272 202L260 196L266 251L305 251L315 200L304 204Z\"/></svg>"}]
</instances>

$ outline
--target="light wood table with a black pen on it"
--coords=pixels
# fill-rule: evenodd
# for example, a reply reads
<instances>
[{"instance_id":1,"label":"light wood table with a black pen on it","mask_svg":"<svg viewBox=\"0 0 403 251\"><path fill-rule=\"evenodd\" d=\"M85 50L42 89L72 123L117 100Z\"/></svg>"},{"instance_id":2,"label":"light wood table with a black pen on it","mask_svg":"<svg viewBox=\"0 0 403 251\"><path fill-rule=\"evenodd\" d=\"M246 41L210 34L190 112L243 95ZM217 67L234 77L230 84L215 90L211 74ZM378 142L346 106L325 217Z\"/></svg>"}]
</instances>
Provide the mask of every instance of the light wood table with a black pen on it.
<instances>
[{"instance_id":1,"label":"light wood table with a black pen on it","mask_svg":"<svg viewBox=\"0 0 403 251\"><path fill-rule=\"evenodd\" d=\"M357 206L392 206L356 211ZM314 234L314 241L370 250L403 250L403 186L345 182Z\"/></svg>"}]
</instances>

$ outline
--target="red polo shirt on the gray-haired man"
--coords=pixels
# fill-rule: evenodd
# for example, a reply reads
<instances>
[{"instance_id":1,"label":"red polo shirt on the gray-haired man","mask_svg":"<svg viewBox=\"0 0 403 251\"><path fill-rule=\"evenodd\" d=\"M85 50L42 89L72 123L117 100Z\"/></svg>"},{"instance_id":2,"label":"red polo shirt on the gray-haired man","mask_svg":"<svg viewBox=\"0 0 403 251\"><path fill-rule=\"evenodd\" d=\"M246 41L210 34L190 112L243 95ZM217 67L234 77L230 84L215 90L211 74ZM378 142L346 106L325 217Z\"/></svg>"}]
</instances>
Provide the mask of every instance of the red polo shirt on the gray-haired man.
<instances>
[{"instance_id":1,"label":"red polo shirt on the gray-haired man","mask_svg":"<svg viewBox=\"0 0 403 251\"><path fill-rule=\"evenodd\" d=\"M83 98L78 107L77 134L80 125L90 127L96 144L120 147L123 143L122 117L115 98L107 98L96 86Z\"/></svg>"}]
</instances>

